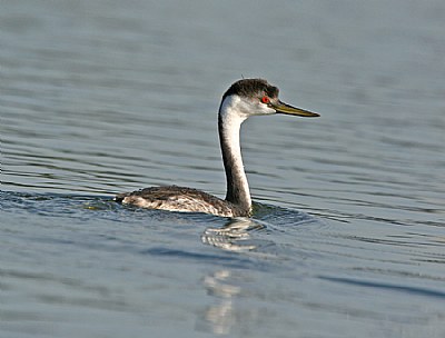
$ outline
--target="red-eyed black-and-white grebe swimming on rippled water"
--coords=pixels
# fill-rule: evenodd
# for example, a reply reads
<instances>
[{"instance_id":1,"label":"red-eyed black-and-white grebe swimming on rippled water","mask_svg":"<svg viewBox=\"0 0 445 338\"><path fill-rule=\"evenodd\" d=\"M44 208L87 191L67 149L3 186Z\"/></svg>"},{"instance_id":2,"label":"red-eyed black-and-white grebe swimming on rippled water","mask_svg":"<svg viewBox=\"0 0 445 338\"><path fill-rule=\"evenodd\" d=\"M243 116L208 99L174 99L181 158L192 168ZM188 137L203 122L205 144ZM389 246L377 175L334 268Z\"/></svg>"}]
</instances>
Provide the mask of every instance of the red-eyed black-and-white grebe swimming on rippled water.
<instances>
[{"instance_id":1,"label":"red-eyed black-and-white grebe swimming on rippled water","mask_svg":"<svg viewBox=\"0 0 445 338\"><path fill-rule=\"evenodd\" d=\"M227 218L251 217L253 203L239 141L241 123L251 116L319 116L283 102L278 93L277 87L258 78L238 80L222 95L218 132L226 171L225 199L192 188L161 186L118 193L115 201L148 209L204 212Z\"/></svg>"}]
</instances>

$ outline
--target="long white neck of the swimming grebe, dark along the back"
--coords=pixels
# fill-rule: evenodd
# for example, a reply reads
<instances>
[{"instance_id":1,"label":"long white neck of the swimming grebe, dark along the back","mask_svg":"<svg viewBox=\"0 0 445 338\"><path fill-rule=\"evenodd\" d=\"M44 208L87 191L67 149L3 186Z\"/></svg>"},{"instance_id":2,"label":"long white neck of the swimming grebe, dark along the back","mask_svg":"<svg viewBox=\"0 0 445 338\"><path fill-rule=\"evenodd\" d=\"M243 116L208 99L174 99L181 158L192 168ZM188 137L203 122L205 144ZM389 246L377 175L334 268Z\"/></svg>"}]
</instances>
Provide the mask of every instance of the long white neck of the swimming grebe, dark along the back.
<instances>
[{"instance_id":1,"label":"long white neck of the swimming grebe, dark along the back","mask_svg":"<svg viewBox=\"0 0 445 338\"><path fill-rule=\"evenodd\" d=\"M240 110L243 102L237 96L224 99L219 107L218 129L222 161L226 169L226 200L246 211L251 209L251 199L246 172L244 171L239 131L247 115Z\"/></svg>"}]
</instances>

